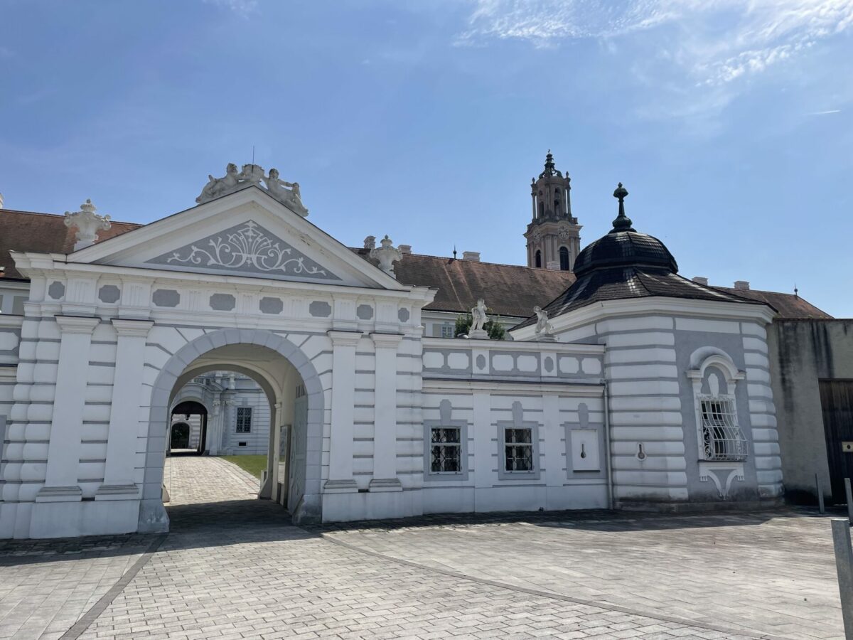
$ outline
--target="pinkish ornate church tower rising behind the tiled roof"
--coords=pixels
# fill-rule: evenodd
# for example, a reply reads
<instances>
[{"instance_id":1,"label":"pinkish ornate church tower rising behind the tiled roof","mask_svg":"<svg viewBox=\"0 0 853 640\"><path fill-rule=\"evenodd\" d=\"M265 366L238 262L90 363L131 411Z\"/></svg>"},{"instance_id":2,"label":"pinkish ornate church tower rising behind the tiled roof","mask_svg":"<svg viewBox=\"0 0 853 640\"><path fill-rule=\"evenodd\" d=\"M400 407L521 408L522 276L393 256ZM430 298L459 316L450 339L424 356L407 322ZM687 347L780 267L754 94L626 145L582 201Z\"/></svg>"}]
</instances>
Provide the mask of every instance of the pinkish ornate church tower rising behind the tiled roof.
<instances>
[{"instance_id":1,"label":"pinkish ornate church tower rising behind the tiled roof","mask_svg":"<svg viewBox=\"0 0 853 640\"><path fill-rule=\"evenodd\" d=\"M527 225L527 266L554 271L572 271L581 250L581 225L572 216L572 187L569 174L554 168L548 149L545 171L531 180L533 219Z\"/></svg>"}]
</instances>

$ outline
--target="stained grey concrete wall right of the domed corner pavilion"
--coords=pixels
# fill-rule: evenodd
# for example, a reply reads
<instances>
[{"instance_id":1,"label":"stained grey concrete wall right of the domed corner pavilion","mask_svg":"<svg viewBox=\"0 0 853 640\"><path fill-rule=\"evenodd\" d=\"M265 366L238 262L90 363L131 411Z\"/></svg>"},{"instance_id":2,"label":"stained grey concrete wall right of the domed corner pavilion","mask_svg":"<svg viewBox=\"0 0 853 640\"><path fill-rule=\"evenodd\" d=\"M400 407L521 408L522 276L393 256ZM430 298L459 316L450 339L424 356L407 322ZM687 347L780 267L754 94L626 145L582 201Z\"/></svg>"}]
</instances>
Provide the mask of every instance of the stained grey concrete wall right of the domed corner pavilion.
<instances>
[{"instance_id":1,"label":"stained grey concrete wall right of the domed corner pavilion","mask_svg":"<svg viewBox=\"0 0 853 640\"><path fill-rule=\"evenodd\" d=\"M776 320L768 331L786 497L817 500L815 474L827 499L829 465L818 381L853 379L853 319Z\"/></svg>"}]
</instances>

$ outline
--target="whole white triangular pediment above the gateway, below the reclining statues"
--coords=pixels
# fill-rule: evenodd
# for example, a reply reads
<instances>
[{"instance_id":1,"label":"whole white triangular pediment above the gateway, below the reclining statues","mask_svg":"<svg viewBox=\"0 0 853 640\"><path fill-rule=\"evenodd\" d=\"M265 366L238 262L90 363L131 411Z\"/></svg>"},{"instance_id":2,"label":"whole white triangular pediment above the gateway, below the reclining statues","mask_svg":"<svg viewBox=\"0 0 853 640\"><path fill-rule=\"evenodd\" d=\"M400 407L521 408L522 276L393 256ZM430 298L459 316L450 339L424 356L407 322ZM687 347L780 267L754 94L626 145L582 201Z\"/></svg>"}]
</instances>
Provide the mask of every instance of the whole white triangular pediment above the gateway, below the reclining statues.
<instances>
[{"instance_id":1,"label":"whole white triangular pediment above the gateway, below the reclining statues","mask_svg":"<svg viewBox=\"0 0 853 640\"><path fill-rule=\"evenodd\" d=\"M251 187L98 242L70 262L316 284L404 285Z\"/></svg>"}]
</instances>

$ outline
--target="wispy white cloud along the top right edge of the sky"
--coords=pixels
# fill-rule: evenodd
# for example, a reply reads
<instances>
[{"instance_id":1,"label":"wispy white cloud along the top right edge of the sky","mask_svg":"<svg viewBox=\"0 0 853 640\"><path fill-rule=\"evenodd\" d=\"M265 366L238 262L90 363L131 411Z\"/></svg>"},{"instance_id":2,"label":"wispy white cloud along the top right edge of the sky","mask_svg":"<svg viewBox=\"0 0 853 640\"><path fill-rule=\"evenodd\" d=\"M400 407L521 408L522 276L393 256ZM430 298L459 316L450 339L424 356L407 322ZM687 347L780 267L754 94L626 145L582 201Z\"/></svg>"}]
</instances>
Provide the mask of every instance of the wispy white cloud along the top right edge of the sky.
<instances>
[{"instance_id":1,"label":"wispy white cloud along the top right edge of the sky","mask_svg":"<svg viewBox=\"0 0 853 640\"><path fill-rule=\"evenodd\" d=\"M537 48L634 35L694 85L762 73L853 26L853 0L474 0L459 45L519 39ZM660 30L666 38L658 41ZM653 30L658 30L652 34ZM651 38L651 41L649 39Z\"/></svg>"}]
</instances>

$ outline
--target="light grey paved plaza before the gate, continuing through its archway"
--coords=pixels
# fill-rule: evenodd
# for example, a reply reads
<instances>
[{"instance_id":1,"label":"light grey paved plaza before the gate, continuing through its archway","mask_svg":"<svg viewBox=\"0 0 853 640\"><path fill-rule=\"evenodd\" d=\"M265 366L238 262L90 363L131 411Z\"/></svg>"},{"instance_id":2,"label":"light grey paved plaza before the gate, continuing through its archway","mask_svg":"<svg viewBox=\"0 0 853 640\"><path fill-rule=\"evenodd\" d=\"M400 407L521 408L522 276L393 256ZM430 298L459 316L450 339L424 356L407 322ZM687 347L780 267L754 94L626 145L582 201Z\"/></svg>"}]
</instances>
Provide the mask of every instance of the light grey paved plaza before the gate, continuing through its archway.
<instances>
[{"instance_id":1,"label":"light grey paved plaza before the gate, continuing through its archway","mask_svg":"<svg viewBox=\"0 0 853 640\"><path fill-rule=\"evenodd\" d=\"M562 513L293 527L169 461L167 536L0 543L0 638L841 638L827 518Z\"/></svg>"}]
</instances>

